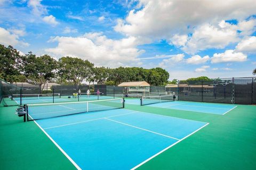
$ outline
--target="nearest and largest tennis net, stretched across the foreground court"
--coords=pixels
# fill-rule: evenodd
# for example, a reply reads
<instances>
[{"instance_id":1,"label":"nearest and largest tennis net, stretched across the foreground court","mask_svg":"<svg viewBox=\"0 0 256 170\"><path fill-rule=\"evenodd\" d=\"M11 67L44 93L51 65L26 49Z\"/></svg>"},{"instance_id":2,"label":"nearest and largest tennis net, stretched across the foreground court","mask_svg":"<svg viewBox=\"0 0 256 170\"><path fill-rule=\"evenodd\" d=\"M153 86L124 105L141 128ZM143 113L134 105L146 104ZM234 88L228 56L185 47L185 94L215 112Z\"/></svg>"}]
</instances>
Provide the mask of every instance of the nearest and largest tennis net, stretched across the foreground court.
<instances>
[{"instance_id":1,"label":"nearest and largest tennis net, stretched across the foreground court","mask_svg":"<svg viewBox=\"0 0 256 170\"><path fill-rule=\"evenodd\" d=\"M28 104L27 121L94 111L124 108L124 98L69 103Z\"/></svg>"}]
</instances>

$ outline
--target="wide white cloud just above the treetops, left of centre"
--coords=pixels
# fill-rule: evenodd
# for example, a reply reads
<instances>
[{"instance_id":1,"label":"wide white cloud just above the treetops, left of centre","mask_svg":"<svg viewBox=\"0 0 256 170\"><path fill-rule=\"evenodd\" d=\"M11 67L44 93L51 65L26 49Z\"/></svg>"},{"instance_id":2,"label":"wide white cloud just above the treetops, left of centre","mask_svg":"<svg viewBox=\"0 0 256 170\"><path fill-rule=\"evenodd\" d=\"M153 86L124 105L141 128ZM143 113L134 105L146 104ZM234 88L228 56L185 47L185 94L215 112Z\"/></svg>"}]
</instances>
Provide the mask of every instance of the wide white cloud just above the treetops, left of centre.
<instances>
[{"instance_id":1,"label":"wide white cloud just above the treetops, left of centre","mask_svg":"<svg viewBox=\"0 0 256 170\"><path fill-rule=\"evenodd\" d=\"M144 51L136 48L137 38L128 37L120 40L108 39L101 33L86 33L80 37L52 37L58 46L47 48L46 52L54 55L80 57L95 65L117 67L137 64L137 58Z\"/></svg>"}]
</instances>

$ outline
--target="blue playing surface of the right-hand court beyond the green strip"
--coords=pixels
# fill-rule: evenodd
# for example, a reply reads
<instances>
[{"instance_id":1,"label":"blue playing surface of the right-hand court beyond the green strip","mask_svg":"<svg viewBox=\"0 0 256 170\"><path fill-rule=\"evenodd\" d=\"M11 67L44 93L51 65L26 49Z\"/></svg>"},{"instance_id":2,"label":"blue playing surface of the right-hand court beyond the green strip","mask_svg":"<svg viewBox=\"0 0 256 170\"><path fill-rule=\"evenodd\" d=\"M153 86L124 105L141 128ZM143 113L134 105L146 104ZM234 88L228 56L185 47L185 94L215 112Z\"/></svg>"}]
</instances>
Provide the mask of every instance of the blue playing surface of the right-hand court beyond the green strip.
<instances>
[{"instance_id":1,"label":"blue playing surface of the right-hand court beyond the green strip","mask_svg":"<svg viewBox=\"0 0 256 170\"><path fill-rule=\"evenodd\" d=\"M126 99L125 104L140 105L140 99ZM181 111L192 111L200 113L210 113L223 115L236 108L235 105L225 104L212 104L212 103L199 103L191 101L170 101L164 103L155 103L142 107L161 107L169 109L178 109Z\"/></svg>"}]
</instances>

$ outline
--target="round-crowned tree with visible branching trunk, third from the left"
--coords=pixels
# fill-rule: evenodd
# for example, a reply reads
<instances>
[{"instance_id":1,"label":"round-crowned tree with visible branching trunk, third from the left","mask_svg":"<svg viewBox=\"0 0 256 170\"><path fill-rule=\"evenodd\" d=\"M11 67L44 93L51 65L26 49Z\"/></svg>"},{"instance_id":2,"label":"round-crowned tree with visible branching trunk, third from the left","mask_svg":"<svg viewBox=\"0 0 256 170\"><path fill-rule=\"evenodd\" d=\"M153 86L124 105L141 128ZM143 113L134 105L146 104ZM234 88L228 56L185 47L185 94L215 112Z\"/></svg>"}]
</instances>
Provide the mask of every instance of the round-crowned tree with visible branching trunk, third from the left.
<instances>
[{"instance_id":1,"label":"round-crowned tree with visible branching trunk, third from the left","mask_svg":"<svg viewBox=\"0 0 256 170\"><path fill-rule=\"evenodd\" d=\"M83 81L90 78L93 64L88 60L74 57L61 57L59 59L59 77L72 82L76 88Z\"/></svg>"}]
</instances>

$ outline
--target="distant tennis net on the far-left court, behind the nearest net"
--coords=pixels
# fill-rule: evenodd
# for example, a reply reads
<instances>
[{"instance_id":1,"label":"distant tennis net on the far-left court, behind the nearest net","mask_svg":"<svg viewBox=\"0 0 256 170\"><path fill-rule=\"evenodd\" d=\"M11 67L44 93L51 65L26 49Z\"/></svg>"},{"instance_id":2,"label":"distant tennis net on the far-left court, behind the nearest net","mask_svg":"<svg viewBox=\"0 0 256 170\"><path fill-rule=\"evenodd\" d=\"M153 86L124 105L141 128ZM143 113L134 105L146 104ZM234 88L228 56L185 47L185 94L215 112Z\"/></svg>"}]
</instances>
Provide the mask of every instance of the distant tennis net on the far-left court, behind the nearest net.
<instances>
[{"instance_id":1,"label":"distant tennis net on the far-left court, behind the nearest net","mask_svg":"<svg viewBox=\"0 0 256 170\"><path fill-rule=\"evenodd\" d=\"M22 94L22 95L12 95L12 100L34 100L34 99L52 99L60 98L60 94Z\"/></svg>"}]
</instances>

